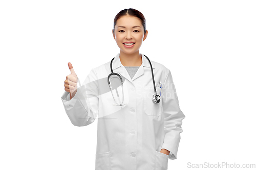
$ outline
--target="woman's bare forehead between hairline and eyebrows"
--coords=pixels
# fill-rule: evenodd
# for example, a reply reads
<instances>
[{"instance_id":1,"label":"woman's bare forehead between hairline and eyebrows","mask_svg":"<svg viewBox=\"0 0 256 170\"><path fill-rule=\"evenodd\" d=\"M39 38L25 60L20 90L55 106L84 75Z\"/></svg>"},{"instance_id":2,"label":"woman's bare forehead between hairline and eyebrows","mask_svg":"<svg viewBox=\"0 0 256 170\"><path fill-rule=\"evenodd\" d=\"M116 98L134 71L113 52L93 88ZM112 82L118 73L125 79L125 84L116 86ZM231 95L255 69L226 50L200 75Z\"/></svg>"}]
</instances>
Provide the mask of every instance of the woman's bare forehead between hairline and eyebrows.
<instances>
[{"instance_id":1,"label":"woman's bare forehead between hairline and eyebrows","mask_svg":"<svg viewBox=\"0 0 256 170\"><path fill-rule=\"evenodd\" d=\"M133 26L140 26L142 28L141 20L136 16L121 16L116 21L116 28L118 26L124 26L124 27L133 27Z\"/></svg>"}]
</instances>

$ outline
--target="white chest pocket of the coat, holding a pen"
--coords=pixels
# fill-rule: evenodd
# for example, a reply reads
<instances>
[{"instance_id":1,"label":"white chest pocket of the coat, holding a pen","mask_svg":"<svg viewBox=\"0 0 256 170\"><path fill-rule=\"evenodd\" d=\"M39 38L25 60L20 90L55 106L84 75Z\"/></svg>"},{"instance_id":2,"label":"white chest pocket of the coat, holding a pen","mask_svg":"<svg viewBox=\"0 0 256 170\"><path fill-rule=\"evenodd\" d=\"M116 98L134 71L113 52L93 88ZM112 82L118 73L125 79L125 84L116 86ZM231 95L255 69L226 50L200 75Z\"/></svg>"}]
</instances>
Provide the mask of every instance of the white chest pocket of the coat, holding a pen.
<instances>
[{"instance_id":1,"label":"white chest pocket of the coat, holding a pen","mask_svg":"<svg viewBox=\"0 0 256 170\"><path fill-rule=\"evenodd\" d=\"M156 87L157 94L160 95L161 88ZM145 90L143 97L143 110L149 116L157 116L162 113L162 99L159 103L154 103L153 99L154 90Z\"/></svg>"}]
</instances>

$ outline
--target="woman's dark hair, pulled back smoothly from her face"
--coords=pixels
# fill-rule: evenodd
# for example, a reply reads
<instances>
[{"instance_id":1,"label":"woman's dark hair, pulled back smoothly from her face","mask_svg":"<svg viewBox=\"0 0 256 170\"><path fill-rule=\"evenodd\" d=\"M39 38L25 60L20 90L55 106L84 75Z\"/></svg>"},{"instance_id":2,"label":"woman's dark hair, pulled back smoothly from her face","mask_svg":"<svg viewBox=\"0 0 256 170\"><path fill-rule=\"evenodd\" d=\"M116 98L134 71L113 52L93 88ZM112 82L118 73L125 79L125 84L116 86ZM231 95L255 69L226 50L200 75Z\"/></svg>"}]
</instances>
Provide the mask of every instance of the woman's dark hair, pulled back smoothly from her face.
<instances>
[{"instance_id":1,"label":"woman's dark hair, pulled back smoothly from her face","mask_svg":"<svg viewBox=\"0 0 256 170\"><path fill-rule=\"evenodd\" d=\"M116 14L116 17L114 19L114 33L115 33L116 21L121 16L124 16L124 15L130 15L130 16L138 17L141 20L141 24L142 24L142 26L144 28L144 34L146 33L146 19L145 19L144 15L140 11L138 11L136 9L133 9L133 8L124 9L124 10L118 12L118 14Z\"/></svg>"}]
</instances>

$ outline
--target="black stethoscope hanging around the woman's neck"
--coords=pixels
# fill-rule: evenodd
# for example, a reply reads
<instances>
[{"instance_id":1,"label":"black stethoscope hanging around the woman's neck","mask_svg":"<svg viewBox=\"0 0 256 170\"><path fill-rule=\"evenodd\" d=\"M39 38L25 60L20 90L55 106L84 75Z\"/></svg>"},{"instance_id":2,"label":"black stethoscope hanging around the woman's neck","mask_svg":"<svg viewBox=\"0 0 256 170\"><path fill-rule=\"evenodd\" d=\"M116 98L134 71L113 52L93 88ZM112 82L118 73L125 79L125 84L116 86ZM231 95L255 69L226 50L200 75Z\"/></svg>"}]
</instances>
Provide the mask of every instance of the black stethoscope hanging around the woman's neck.
<instances>
[{"instance_id":1,"label":"black stethoscope hanging around the woman's neck","mask_svg":"<svg viewBox=\"0 0 256 170\"><path fill-rule=\"evenodd\" d=\"M144 56L145 56L145 55L144 55ZM150 59L148 59L147 56L145 56L145 57L146 57L147 60L150 62ZM108 77L108 83L109 83L109 87L110 87L110 91L111 91L111 94L112 94L112 96L113 96L113 99L114 99L114 101L116 102L116 100L115 100L115 98L114 98L114 95L113 95L113 92L112 92L112 86L111 86L111 84L110 84L110 76L116 75L116 76L118 76L118 77L120 78L121 86L122 86L122 94L123 94L123 80L122 80L122 78L121 78L121 76L120 76L119 74L117 74L116 72L113 72L113 69L112 69L112 61L113 61L114 59L115 59L115 57L114 57L114 58L111 60L111 62L110 62L111 74L110 74L109 77ZM150 62L150 67L151 67L152 80L153 80L154 90L155 90L155 94L153 94L153 96L152 96L152 101L153 101L153 103L157 104L157 103L160 102L160 99L161 99L161 98L160 98L160 95L157 94L156 85L155 85L155 79L154 79L154 74L153 74L153 68L152 68L151 62ZM116 89L116 91L117 91L117 89ZM118 96L118 97L119 97L119 96ZM116 102L116 105L117 105L117 106L122 106L123 101L124 101L124 98L123 98L123 95L122 95L122 103L119 105L119 104L117 104L117 102Z\"/></svg>"}]
</instances>

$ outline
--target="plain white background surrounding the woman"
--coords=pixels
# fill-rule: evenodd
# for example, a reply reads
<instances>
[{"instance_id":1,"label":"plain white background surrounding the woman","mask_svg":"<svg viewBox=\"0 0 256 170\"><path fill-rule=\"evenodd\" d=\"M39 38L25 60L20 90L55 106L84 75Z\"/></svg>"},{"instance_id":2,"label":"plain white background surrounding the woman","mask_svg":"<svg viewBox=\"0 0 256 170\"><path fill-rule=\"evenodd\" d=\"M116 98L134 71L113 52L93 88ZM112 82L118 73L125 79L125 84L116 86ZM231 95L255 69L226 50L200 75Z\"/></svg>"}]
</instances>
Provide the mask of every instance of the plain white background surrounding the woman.
<instances>
[{"instance_id":1,"label":"plain white background surrounding the woman","mask_svg":"<svg viewBox=\"0 0 256 170\"><path fill-rule=\"evenodd\" d=\"M185 114L176 160L256 163L255 1L1 1L0 169L95 169L97 119L70 122L61 101L119 52L116 14L143 13L140 53L172 72Z\"/></svg>"}]
</instances>

